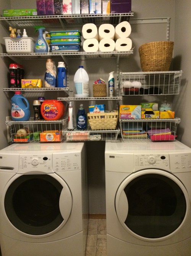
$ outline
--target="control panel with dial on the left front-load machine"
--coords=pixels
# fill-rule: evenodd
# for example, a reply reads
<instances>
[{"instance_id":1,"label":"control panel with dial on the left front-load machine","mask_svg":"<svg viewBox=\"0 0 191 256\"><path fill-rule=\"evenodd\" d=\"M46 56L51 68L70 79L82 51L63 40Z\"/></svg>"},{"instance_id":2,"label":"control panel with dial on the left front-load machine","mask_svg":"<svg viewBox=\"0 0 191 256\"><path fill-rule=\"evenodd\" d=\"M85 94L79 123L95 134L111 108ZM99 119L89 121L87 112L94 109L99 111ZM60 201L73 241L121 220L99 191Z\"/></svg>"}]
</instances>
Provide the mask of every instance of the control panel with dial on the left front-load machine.
<instances>
[{"instance_id":1,"label":"control panel with dial on the left front-load machine","mask_svg":"<svg viewBox=\"0 0 191 256\"><path fill-rule=\"evenodd\" d=\"M81 169L81 153L20 154L18 173L54 173Z\"/></svg>"}]
</instances>

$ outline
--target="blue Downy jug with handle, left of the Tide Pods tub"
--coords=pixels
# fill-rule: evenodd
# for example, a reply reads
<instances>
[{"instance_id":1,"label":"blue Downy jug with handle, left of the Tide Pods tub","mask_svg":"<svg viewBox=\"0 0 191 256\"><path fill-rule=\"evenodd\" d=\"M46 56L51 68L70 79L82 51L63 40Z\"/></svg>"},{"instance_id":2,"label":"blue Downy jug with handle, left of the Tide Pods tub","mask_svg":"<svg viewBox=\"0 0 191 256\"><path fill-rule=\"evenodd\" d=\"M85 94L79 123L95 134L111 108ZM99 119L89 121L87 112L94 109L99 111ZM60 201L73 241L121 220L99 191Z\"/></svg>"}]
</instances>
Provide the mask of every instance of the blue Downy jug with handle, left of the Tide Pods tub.
<instances>
[{"instance_id":1,"label":"blue Downy jug with handle, left of the Tide Pods tub","mask_svg":"<svg viewBox=\"0 0 191 256\"><path fill-rule=\"evenodd\" d=\"M11 98L11 117L13 121L29 121L31 116L28 100L16 91Z\"/></svg>"}]
</instances>

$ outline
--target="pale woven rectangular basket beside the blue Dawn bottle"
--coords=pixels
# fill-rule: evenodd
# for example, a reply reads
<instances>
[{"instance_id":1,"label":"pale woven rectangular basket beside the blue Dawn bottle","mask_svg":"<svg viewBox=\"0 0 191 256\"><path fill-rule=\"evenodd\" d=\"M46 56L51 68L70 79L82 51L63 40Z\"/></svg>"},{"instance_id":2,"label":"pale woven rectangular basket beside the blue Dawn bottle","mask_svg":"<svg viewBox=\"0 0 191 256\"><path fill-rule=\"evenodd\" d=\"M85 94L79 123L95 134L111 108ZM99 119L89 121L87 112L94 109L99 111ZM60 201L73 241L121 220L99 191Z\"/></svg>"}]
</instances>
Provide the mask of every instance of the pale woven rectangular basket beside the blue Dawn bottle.
<instances>
[{"instance_id":1,"label":"pale woven rectangular basket beside the blue Dawn bottle","mask_svg":"<svg viewBox=\"0 0 191 256\"><path fill-rule=\"evenodd\" d=\"M92 130L110 130L117 126L118 112L87 113L87 118Z\"/></svg>"}]
</instances>

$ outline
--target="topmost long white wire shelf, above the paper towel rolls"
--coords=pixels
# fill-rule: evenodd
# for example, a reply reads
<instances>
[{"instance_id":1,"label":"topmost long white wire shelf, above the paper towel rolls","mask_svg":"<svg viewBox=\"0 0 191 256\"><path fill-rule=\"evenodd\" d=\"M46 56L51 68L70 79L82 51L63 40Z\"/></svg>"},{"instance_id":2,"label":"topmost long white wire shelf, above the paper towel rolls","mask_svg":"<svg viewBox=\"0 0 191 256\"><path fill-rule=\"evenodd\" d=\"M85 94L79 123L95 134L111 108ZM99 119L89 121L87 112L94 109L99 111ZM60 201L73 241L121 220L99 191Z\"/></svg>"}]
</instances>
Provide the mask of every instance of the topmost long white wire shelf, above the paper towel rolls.
<instances>
[{"instance_id":1,"label":"topmost long white wire shelf, above the paper towel rolls","mask_svg":"<svg viewBox=\"0 0 191 256\"><path fill-rule=\"evenodd\" d=\"M31 28L34 26L64 27L64 26L83 26L86 23L101 25L110 23L117 25L122 21L129 21L133 13L110 13L110 14L72 14L72 15L49 15L49 16L18 16L18 17L0 17L0 22L4 26L16 28Z\"/></svg>"}]
</instances>

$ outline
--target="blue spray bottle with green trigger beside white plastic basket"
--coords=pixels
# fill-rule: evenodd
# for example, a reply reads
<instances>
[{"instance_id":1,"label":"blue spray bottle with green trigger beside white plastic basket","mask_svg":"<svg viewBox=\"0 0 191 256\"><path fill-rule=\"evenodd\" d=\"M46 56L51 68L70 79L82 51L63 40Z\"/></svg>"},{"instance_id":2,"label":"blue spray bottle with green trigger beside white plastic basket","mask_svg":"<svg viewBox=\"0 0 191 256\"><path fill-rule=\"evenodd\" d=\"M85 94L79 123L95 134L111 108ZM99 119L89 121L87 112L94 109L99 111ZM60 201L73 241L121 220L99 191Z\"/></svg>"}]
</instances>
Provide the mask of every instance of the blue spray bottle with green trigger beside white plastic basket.
<instances>
[{"instance_id":1,"label":"blue spray bottle with green trigger beside white plastic basket","mask_svg":"<svg viewBox=\"0 0 191 256\"><path fill-rule=\"evenodd\" d=\"M34 33L36 33L36 31L38 30L39 36L34 45L34 52L35 53L47 53L49 51L49 48L48 48L47 41L43 37L43 31L45 30L45 28L42 26L35 26L35 28L36 28L36 30Z\"/></svg>"}]
</instances>

